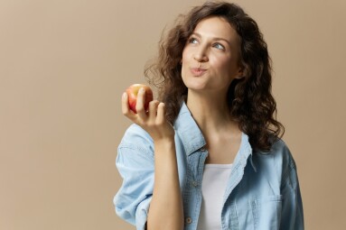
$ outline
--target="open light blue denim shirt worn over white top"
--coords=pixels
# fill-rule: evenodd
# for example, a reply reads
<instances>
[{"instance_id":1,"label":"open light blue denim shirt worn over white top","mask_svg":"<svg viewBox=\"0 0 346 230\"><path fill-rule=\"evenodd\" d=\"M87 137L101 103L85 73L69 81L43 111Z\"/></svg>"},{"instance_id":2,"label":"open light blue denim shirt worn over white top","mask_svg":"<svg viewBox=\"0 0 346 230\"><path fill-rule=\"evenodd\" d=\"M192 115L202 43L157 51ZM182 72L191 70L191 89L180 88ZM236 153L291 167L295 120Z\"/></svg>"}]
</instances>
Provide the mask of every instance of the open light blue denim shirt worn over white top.
<instances>
[{"instance_id":1,"label":"open light blue denim shirt worn over white top","mask_svg":"<svg viewBox=\"0 0 346 230\"><path fill-rule=\"evenodd\" d=\"M208 151L204 149L206 143L201 130L185 104L174 129L184 230L195 230ZM154 189L154 143L136 124L126 130L118 146L117 170L123 178L114 198L117 215L136 225L136 229L145 229ZM243 133L226 188L222 230L304 229L295 161L283 141L274 143L270 152L254 152L248 135Z\"/></svg>"}]
</instances>

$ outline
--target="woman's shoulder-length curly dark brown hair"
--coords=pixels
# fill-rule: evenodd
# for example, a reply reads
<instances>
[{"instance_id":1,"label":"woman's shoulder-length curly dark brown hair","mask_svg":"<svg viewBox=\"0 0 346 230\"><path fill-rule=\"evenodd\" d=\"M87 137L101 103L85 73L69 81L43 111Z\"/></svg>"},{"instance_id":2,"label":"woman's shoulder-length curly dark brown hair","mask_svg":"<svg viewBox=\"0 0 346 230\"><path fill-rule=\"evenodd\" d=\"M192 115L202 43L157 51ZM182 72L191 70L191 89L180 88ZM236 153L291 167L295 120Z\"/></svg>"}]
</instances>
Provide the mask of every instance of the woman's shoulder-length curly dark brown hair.
<instances>
[{"instance_id":1,"label":"woman's shoulder-length curly dark brown hair","mask_svg":"<svg viewBox=\"0 0 346 230\"><path fill-rule=\"evenodd\" d=\"M267 152L282 137L285 128L276 120L267 43L257 23L238 5L207 2L192 8L189 14L180 15L173 29L161 38L158 57L145 69L145 77L158 87L158 99L165 103L167 119L173 124L188 93L181 75L182 50L196 25L211 16L226 19L240 38L238 61L244 78L234 79L229 87L229 113L239 129L248 134L251 146Z\"/></svg>"}]
</instances>

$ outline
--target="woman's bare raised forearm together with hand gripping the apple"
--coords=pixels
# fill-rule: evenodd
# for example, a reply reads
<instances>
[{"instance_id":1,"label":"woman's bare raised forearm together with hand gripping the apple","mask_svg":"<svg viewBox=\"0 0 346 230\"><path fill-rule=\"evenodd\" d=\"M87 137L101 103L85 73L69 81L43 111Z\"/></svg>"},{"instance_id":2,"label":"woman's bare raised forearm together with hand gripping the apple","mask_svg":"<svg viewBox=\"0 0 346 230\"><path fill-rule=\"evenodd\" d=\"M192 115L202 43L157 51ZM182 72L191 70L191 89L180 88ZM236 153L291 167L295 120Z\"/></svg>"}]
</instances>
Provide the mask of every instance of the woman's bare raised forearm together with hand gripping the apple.
<instances>
[{"instance_id":1,"label":"woman's bare raised forearm together with hand gripping the apple","mask_svg":"<svg viewBox=\"0 0 346 230\"><path fill-rule=\"evenodd\" d=\"M179 185L175 153L174 130L165 119L164 103L152 101L149 111L144 108L145 90L137 96L136 111L128 106L126 93L122 111L131 121L140 125L154 140L154 192L150 203L147 229L182 230L182 195Z\"/></svg>"}]
</instances>

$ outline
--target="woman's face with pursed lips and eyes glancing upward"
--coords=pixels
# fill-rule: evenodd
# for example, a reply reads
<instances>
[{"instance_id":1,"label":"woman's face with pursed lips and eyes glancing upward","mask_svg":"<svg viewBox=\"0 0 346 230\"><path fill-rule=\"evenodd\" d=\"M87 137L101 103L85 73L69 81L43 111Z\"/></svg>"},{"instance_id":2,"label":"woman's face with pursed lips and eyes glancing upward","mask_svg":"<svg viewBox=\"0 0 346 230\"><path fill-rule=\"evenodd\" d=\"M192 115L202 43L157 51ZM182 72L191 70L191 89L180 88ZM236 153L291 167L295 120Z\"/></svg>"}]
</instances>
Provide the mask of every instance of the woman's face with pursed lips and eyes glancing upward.
<instances>
[{"instance_id":1,"label":"woman's face with pursed lips and eyes glancing upward","mask_svg":"<svg viewBox=\"0 0 346 230\"><path fill-rule=\"evenodd\" d=\"M216 16L203 19L182 51L185 86L189 90L227 93L231 81L242 76L238 53L238 33L225 19Z\"/></svg>"}]
</instances>

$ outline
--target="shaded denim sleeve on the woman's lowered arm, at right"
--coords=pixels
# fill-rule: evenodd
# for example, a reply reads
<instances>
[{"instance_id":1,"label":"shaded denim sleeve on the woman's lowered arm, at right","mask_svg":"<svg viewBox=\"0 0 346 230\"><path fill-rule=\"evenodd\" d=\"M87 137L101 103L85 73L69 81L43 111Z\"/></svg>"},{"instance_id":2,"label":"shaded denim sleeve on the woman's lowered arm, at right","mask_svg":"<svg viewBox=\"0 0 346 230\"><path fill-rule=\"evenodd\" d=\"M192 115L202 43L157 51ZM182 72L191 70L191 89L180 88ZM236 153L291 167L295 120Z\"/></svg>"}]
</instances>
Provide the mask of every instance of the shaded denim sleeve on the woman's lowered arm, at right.
<instances>
[{"instance_id":1,"label":"shaded denim sleeve on the woman's lowered arm, at right","mask_svg":"<svg viewBox=\"0 0 346 230\"><path fill-rule=\"evenodd\" d=\"M304 230L304 213L294 159L290 158L281 192L283 195L280 230Z\"/></svg>"}]
</instances>

